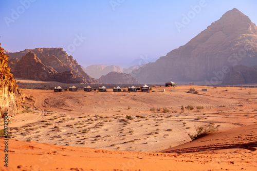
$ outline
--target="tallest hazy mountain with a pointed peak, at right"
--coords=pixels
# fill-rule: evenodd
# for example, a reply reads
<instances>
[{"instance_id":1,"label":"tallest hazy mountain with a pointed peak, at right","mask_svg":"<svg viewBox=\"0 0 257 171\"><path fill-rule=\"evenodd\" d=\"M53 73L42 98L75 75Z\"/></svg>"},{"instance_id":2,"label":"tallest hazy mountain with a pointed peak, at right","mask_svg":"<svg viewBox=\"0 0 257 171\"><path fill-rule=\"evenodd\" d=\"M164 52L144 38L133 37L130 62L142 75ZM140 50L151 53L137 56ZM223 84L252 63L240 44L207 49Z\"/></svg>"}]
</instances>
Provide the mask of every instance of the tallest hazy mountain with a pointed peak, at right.
<instances>
[{"instance_id":1,"label":"tallest hazy mountain with a pointed peak, at right","mask_svg":"<svg viewBox=\"0 0 257 171\"><path fill-rule=\"evenodd\" d=\"M130 74L142 83L174 80L215 84L236 65L257 65L257 27L234 8L186 45Z\"/></svg>"}]
</instances>

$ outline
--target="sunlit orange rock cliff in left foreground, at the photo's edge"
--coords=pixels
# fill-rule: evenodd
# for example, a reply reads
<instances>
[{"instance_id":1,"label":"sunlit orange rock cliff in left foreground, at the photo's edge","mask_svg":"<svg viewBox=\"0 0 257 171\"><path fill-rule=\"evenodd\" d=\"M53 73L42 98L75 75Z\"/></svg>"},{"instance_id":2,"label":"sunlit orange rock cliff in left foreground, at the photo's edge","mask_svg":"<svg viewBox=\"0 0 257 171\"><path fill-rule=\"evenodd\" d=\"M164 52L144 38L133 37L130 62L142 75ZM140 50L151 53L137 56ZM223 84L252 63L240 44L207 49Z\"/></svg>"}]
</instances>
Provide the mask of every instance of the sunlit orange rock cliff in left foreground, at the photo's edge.
<instances>
[{"instance_id":1,"label":"sunlit orange rock cliff in left foreground, at the photo's edge","mask_svg":"<svg viewBox=\"0 0 257 171\"><path fill-rule=\"evenodd\" d=\"M8 113L10 118L22 109L24 95L18 89L16 80L10 73L10 68L8 67L9 56L5 55L3 50L0 47L0 113L1 118L4 117L5 112Z\"/></svg>"}]
</instances>

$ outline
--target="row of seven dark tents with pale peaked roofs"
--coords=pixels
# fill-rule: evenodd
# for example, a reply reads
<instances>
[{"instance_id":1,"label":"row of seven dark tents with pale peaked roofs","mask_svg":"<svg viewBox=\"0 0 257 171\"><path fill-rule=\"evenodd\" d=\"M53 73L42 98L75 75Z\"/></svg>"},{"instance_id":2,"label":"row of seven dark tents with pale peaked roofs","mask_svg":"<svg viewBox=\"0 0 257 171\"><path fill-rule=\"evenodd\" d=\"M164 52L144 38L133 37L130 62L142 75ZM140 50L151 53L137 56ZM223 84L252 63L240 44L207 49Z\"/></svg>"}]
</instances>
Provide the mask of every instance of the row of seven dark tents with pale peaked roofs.
<instances>
[{"instance_id":1,"label":"row of seven dark tents with pale peaked roofs","mask_svg":"<svg viewBox=\"0 0 257 171\"><path fill-rule=\"evenodd\" d=\"M141 90L142 92L149 91L150 87L147 86L146 84L144 84L140 88L135 88L134 86L127 88L128 92L136 92L138 90ZM62 92L62 91L63 91L63 89L60 86L54 88L54 92ZM75 86L72 86L72 87L69 87L69 89L64 89L64 91L76 92L77 88ZM85 92L91 92L91 91L97 91L97 89L92 89L90 86L87 86L87 87L84 87L84 91ZM106 87L103 86L103 87L99 87L98 91L99 92L106 92L107 89L106 89ZM114 87L113 91L114 92L121 92L121 88L119 86L118 87ZM123 89L122 91L125 92L126 90Z\"/></svg>"}]
</instances>

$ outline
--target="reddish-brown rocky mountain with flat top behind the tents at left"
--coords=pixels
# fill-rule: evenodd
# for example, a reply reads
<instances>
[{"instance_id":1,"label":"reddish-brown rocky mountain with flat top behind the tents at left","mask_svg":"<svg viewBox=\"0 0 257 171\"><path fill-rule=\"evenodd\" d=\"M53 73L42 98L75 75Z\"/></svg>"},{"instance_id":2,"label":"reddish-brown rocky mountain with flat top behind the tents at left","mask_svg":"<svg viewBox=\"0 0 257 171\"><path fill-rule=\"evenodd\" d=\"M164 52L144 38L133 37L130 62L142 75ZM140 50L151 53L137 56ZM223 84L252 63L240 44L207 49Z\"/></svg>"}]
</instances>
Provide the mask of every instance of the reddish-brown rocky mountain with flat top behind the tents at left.
<instances>
[{"instance_id":1,"label":"reddish-brown rocky mountain with flat top behind the tents at left","mask_svg":"<svg viewBox=\"0 0 257 171\"><path fill-rule=\"evenodd\" d=\"M16 78L65 83L98 83L62 48L25 49L8 55L11 72Z\"/></svg>"}]
</instances>

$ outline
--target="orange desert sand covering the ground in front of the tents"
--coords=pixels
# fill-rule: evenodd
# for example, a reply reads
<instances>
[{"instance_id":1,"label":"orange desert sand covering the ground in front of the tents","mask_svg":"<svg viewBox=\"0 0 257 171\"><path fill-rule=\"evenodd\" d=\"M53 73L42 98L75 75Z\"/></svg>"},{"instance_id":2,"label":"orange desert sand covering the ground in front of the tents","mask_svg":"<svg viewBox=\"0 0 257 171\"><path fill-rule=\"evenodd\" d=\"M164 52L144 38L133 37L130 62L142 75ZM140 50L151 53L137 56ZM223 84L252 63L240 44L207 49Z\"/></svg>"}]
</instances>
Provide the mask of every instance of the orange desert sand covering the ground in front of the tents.
<instances>
[{"instance_id":1,"label":"orange desert sand covering the ground in front of the tents","mask_svg":"<svg viewBox=\"0 0 257 171\"><path fill-rule=\"evenodd\" d=\"M190 88L197 93L188 93ZM178 86L153 87L150 93L24 93L26 110L9 124L9 169L257 168L256 88ZM192 105L194 110L182 111L181 105ZM196 106L204 109L197 111ZM196 134L195 127L210 124L217 132L191 141L188 134Z\"/></svg>"}]
</instances>

